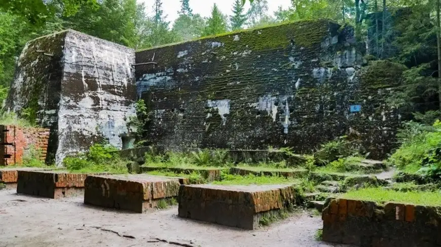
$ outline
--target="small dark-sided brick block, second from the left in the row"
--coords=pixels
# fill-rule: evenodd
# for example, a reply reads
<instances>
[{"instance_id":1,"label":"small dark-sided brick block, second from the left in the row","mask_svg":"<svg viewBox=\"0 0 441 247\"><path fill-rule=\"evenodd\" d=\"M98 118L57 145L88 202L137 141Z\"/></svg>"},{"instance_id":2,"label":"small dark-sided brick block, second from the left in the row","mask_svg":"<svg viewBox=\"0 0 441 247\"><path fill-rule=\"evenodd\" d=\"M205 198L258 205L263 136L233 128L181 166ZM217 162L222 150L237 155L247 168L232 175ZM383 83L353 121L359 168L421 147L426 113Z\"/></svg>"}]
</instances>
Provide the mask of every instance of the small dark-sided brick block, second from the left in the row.
<instances>
[{"instance_id":1,"label":"small dark-sided brick block, second from the left in the row","mask_svg":"<svg viewBox=\"0 0 441 247\"><path fill-rule=\"evenodd\" d=\"M87 174L65 171L18 171L17 193L58 199L84 191Z\"/></svg>"}]
</instances>

